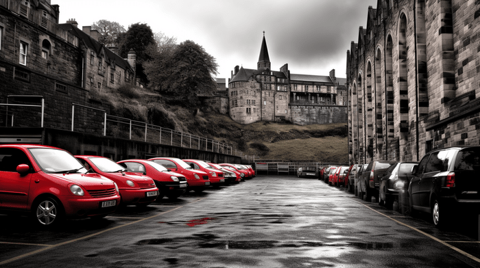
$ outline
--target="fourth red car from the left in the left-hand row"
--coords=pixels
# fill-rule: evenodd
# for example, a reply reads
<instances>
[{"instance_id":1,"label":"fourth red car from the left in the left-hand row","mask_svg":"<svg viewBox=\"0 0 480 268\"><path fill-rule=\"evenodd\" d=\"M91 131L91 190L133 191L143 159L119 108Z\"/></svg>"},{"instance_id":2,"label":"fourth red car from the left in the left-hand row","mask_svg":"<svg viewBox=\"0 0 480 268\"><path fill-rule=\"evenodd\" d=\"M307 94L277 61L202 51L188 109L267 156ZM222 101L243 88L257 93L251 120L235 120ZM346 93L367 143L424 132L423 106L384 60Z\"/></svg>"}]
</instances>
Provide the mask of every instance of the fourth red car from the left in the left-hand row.
<instances>
[{"instance_id":1,"label":"fourth red car from the left in the left-hand row","mask_svg":"<svg viewBox=\"0 0 480 268\"><path fill-rule=\"evenodd\" d=\"M210 179L208 178L208 174L206 174L206 172L202 172L201 170L193 170L192 167L185 163L182 159L175 157L154 157L148 160L163 165L169 171L180 173L185 176L189 185L187 187L187 191L193 190L196 193L200 193L210 186Z\"/></svg>"}]
</instances>

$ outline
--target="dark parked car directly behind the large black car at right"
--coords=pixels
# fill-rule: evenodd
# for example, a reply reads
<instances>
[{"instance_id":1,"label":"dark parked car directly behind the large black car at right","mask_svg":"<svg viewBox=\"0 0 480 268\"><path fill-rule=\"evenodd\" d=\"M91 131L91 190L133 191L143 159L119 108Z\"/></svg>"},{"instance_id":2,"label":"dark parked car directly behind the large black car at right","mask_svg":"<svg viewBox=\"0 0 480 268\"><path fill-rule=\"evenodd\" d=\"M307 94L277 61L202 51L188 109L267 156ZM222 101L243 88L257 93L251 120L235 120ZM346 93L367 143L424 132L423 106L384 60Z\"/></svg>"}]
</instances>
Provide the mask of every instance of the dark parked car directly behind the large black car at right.
<instances>
[{"instance_id":1,"label":"dark parked car directly behind the large black car at right","mask_svg":"<svg viewBox=\"0 0 480 268\"><path fill-rule=\"evenodd\" d=\"M388 167L385 176L380 179L379 204L392 209L394 202L398 202L399 194L407 193L414 165L418 162L399 162Z\"/></svg>"}]
</instances>

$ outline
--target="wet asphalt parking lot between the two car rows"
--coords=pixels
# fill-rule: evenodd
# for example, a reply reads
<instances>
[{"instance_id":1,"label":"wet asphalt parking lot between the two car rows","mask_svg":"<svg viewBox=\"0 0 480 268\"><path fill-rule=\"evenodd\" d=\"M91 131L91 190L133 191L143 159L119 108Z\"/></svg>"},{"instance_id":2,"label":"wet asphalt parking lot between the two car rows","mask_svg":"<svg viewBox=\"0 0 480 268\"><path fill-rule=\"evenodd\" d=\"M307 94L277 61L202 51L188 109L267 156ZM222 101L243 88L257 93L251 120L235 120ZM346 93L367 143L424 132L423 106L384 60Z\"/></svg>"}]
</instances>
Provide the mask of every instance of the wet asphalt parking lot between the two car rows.
<instances>
[{"instance_id":1,"label":"wet asphalt parking lot between the two car rows","mask_svg":"<svg viewBox=\"0 0 480 268\"><path fill-rule=\"evenodd\" d=\"M258 175L58 230L0 222L5 267L480 267L476 226L438 230L296 176Z\"/></svg>"}]
</instances>

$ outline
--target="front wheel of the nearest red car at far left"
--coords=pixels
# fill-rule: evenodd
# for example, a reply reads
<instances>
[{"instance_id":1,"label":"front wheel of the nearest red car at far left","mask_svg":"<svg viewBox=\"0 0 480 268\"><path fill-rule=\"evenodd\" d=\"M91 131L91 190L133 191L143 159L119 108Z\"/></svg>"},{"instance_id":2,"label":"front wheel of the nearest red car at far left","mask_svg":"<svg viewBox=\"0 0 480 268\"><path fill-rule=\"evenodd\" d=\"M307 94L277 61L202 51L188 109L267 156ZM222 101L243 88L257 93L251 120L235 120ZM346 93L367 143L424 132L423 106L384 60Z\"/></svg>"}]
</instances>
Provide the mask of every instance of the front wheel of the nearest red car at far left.
<instances>
[{"instance_id":1,"label":"front wheel of the nearest red car at far left","mask_svg":"<svg viewBox=\"0 0 480 268\"><path fill-rule=\"evenodd\" d=\"M43 198L32 206L32 216L38 226L55 226L62 220L62 209L53 198Z\"/></svg>"}]
</instances>

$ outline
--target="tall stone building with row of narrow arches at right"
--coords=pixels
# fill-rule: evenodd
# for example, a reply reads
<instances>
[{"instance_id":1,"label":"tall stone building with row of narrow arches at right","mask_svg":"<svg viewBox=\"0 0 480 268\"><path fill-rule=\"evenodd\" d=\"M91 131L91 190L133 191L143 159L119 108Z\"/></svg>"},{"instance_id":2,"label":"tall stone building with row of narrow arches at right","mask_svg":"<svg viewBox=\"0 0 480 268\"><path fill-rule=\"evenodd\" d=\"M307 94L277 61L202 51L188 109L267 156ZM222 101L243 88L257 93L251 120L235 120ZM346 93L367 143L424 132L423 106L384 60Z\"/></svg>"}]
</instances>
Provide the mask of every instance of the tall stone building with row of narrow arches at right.
<instances>
[{"instance_id":1,"label":"tall stone building with row of narrow arches at right","mask_svg":"<svg viewBox=\"0 0 480 268\"><path fill-rule=\"evenodd\" d=\"M479 144L480 2L379 0L347 51L349 159Z\"/></svg>"}]
</instances>

